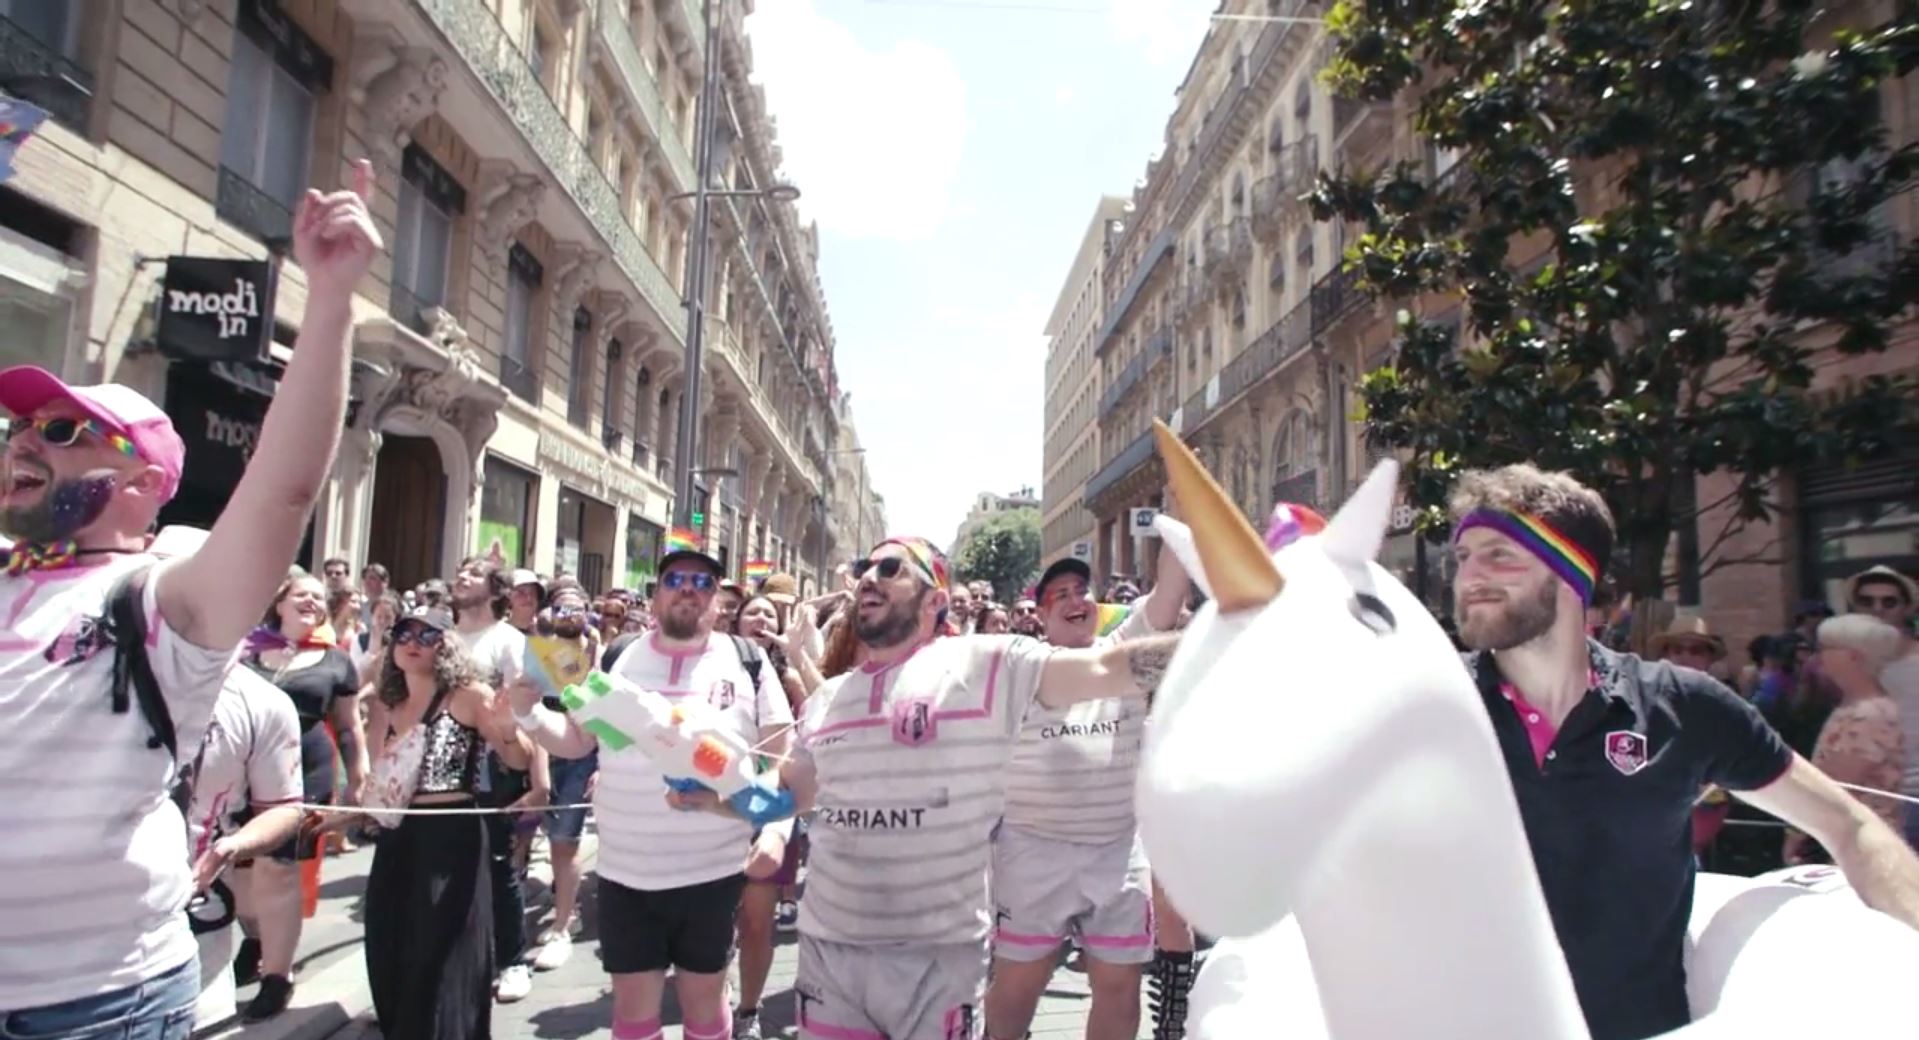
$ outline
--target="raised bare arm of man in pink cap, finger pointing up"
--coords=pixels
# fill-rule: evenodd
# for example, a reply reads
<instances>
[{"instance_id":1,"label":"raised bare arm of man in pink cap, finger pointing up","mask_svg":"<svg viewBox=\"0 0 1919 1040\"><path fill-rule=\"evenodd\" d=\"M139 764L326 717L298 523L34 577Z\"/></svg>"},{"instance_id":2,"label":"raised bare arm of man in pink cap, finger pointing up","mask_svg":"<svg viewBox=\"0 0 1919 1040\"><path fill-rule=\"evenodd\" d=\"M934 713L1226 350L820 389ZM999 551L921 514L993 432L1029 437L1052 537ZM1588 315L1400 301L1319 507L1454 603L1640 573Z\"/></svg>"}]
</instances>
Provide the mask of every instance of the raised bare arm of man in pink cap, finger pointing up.
<instances>
[{"instance_id":1,"label":"raised bare arm of man in pink cap, finger pointing up","mask_svg":"<svg viewBox=\"0 0 1919 1040\"><path fill-rule=\"evenodd\" d=\"M232 647L286 578L320 484L340 455L353 363L353 288L384 249L367 211L372 165L353 167L353 190L307 192L294 215L294 259L307 274L307 311L294 359L267 409L259 447L205 545L157 572L159 612L200 647Z\"/></svg>"}]
</instances>

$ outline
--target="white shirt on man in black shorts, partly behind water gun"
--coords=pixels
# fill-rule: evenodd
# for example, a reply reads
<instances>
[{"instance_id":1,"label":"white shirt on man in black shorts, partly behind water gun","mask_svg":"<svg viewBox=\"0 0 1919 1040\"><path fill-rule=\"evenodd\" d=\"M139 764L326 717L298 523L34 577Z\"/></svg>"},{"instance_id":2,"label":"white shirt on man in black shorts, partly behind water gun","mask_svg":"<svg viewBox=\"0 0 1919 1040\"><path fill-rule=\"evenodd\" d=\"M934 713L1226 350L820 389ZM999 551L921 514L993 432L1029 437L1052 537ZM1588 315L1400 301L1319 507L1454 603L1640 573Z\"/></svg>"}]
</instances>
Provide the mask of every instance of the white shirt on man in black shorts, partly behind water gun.
<instances>
[{"instance_id":1,"label":"white shirt on man in black shorts, partly behind water gun","mask_svg":"<svg viewBox=\"0 0 1919 1040\"><path fill-rule=\"evenodd\" d=\"M764 658L762 658L764 662ZM793 725L793 706L773 674L760 664L752 691L739 649L725 635L708 635L699 650L660 647L658 633L635 639L612 664L614 675L668 700L704 698L723 723L760 746ZM666 777L635 748L601 748L601 779L593 791L599 821L599 873L608 881L658 892L741 873L752 827L741 819L666 806Z\"/></svg>"}]
</instances>

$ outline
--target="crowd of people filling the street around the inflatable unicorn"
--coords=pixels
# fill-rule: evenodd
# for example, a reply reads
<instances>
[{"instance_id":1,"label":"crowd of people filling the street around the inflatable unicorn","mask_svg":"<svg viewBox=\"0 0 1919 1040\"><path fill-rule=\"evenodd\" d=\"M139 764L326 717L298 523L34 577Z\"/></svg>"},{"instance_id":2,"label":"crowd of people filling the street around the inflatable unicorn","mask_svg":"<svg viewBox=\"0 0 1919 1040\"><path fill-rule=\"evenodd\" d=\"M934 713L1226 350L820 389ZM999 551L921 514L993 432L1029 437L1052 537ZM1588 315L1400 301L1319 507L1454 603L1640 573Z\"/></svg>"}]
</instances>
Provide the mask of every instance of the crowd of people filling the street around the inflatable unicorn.
<instances>
[{"instance_id":1,"label":"crowd of people filling the street around the inflatable unicorn","mask_svg":"<svg viewBox=\"0 0 1919 1040\"><path fill-rule=\"evenodd\" d=\"M307 313L284 382L299 393L272 403L211 532L154 532L184 447L152 401L0 372L13 416L0 528L15 539L0 576L0 831L13 839L0 1036L180 1040L280 1013L303 877L357 833L374 842L365 967L382 1032L484 1040L495 1002L572 956L591 804L616 1040L662 1036L670 977L689 1040L760 1036L781 919L798 931L810 1040L1015 1040L1067 944L1092 988L1088 1040L1138 1032L1142 977L1155 1036L1176 1040L1196 936L1153 883L1132 787L1197 604L1217 595L1230 620L1282 587L1257 533L1245 574L1192 574L1159 553L1149 591L1109 589L1125 604L1102 603L1075 558L1002 599L958 583L919 537L873 545L810 601L785 576L731 583L697 547L654 560L649 589L599 597L489 556L399 593L376 562L357 589L342 558L290 570L338 451L353 286L382 249L370 194L361 163L351 190L309 192L294 217ZM1203 499L1188 537L1242 537L1215 485L1188 489ZM1180 514L1169 501L1169 524ZM1282 505L1265 549L1322 528ZM1645 650L1593 637L1612 537L1606 505L1566 474L1508 466L1458 484L1462 664L1593 1036L1639 1040L1689 1017L1696 860L1677 827L1714 787L1792 825L1792 856L1829 856L1869 906L1919 927L1904 814L1833 783L1896 777L1919 794L1904 752L1919 652L1913 583L1865 572L1848 589L1858 614L1819 620L1810 660L1769 643L1746 700L1710 675L1723 647L1698 626ZM1376 601L1353 603L1353 624L1389 624ZM568 708L560 677L591 668L668 700L672 725L699 718L750 748L789 808L748 819L710 789L670 785L631 735ZM1835 691L1812 762L1781 735L1808 672ZM1765 714L1779 704L1787 716ZM528 929L535 831L553 913Z\"/></svg>"}]
</instances>

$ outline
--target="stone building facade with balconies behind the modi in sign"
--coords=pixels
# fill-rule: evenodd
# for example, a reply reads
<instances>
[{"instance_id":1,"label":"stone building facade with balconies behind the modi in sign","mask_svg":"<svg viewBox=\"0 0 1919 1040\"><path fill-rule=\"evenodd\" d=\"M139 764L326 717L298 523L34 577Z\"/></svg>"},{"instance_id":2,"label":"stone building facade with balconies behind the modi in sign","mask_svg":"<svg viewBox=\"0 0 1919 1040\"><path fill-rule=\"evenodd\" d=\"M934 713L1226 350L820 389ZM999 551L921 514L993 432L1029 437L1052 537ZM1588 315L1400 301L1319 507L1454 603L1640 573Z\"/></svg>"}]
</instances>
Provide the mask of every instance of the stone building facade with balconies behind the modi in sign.
<instances>
[{"instance_id":1,"label":"stone building facade with balconies behind the modi in sign","mask_svg":"<svg viewBox=\"0 0 1919 1040\"><path fill-rule=\"evenodd\" d=\"M21 13L25 10L46 13ZM714 186L775 184L746 6L716 4ZM687 332L697 0L75 0L0 17L0 79L54 111L0 186L6 361L148 391L188 439L169 522L209 524L297 334L307 188L372 157L388 236L355 299L345 443L305 556L395 581L499 551L589 589L649 579L672 516ZM817 236L737 196L710 226L695 512L729 568L844 547ZM169 257L271 265L272 343L182 357ZM203 476L200 476L203 474Z\"/></svg>"}]
</instances>

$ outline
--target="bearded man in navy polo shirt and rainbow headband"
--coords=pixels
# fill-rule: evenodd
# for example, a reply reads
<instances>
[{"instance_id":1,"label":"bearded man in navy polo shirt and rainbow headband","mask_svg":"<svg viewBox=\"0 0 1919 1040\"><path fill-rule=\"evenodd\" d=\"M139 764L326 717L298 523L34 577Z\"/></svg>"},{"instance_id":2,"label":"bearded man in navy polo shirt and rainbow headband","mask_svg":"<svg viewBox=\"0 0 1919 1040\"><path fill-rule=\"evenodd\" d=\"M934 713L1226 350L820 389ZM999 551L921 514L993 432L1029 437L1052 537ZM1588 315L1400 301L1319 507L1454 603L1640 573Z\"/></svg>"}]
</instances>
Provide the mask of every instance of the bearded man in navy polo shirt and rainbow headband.
<instances>
[{"instance_id":1,"label":"bearded man in navy polo shirt and rainbow headband","mask_svg":"<svg viewBox=\"0 0 1919 1040\"><path fill-rule=\"evenodd\" d=\"M1708 783L1813 835L1869 906L1919 929L1913 852L1750 704L1702 672L1587 639L1614 541L1599 493L1533 466L1470 472L1453 520L1466 668L1593 1040L1691 1021L1691 817Z\"/></svg>"}]
</instances>

